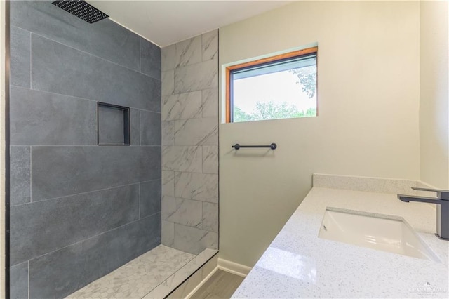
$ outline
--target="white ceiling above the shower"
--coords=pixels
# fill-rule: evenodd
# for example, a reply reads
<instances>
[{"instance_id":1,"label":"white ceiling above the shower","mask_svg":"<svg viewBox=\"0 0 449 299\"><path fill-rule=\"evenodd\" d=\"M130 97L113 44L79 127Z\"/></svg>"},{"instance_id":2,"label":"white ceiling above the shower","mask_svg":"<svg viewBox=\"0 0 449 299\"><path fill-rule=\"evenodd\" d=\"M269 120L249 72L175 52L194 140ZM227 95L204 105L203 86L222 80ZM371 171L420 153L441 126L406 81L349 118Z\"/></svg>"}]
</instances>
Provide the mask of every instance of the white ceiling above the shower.
<instances>
[{"instance_id":1,"label":"white ceiling above the shower","mask_svg":"<svg viewBox=\"0 0 449 299\"><path fill-rule=\"evenodd\" d=\"M232 24L292 1L87 0L109 17L158 46Z\"/></svg>"}]
</instances>

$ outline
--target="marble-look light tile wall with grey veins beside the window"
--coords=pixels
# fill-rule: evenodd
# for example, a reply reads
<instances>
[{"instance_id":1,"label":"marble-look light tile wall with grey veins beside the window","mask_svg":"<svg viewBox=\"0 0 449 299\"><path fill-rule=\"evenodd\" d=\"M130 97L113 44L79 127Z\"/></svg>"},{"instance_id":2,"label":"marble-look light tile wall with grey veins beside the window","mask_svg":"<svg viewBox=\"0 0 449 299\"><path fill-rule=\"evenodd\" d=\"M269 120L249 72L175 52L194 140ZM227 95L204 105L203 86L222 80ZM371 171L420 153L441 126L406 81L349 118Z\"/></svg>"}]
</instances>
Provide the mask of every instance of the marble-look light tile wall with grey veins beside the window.
<instances>
[{"instance_id":1,"label":"marble-look light tile wall with grey veins beside the window","mask_svg":"<svg viewBox=\"0 0 449 299\"><path fill-rule=\"evenodd\" d=\"M162 48L162 244L218 248L218 31Z\"/></svg>"}]
</instances>

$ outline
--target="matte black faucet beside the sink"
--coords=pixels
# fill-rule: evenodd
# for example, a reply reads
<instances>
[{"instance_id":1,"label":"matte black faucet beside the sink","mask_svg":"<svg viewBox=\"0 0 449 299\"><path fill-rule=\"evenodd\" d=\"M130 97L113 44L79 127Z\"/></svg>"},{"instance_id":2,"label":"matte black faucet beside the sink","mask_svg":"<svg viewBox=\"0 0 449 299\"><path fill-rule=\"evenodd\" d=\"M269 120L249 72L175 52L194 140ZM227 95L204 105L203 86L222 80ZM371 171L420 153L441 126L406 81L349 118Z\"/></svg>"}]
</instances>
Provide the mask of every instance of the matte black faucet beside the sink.
<instances>
[{"instance_id":1,"label":"matte black faucet beside the sink","mask_svg":"<svg viewBox=\"0 0 449 299\"><path fill-rule=\"evenodd\" d=\"M436 197L417 197L413 195L398 194L401 201L419 201L436 204L436 237L449 241L449 190L412 187L417 191L436 192Z\"/></svg>"}]
</instances>

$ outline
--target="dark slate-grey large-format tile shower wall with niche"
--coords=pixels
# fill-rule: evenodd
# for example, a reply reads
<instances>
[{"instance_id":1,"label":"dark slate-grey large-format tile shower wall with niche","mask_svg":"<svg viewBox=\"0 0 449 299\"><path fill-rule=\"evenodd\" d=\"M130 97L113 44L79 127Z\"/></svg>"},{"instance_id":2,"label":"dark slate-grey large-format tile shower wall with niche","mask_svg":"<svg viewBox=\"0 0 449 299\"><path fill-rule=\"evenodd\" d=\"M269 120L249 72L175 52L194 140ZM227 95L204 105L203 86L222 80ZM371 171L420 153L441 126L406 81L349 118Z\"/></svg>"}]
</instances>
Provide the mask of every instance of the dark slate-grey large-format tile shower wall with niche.
<instances>
[{"instance_id":1,"label":"dark slate-grey large-format tile shower wall with niche","mask_svg":"<svg viewBox=\"0 0 449 299\"><path fill-rule=\"evenodd\" d=\"M11 298L62 298L161 243L161 49L11 1ZM131 107L97 145L96 102Z\"/></svg>"}]
</instances>

